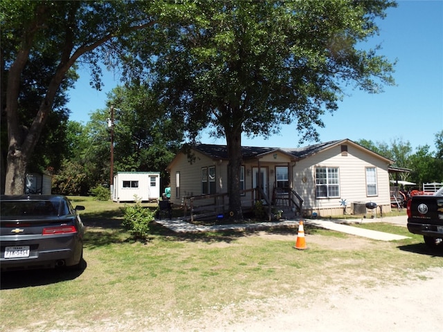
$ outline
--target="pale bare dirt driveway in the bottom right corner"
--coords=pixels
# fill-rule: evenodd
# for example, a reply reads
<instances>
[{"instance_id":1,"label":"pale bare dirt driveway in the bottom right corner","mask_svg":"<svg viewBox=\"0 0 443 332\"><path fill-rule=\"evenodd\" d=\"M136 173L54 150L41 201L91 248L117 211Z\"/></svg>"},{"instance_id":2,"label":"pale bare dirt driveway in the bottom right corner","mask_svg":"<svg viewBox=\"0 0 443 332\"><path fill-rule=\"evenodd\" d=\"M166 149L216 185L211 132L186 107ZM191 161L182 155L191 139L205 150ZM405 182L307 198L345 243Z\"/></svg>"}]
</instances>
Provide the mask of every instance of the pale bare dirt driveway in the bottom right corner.
<instances>
[{"instance_id":1,"label":"pale bare dirt driveway in the bottom right corner","mask_svg":"<svg viewBox=\"0 0 443 332\"><path fill-rule=\"evenodd\" d=\"M269 299L266 317L218 321L196 331L442 331L442 284L443 268L437 268L370 290L336 285L315 298Z\"/></svg>"}]
</instances>

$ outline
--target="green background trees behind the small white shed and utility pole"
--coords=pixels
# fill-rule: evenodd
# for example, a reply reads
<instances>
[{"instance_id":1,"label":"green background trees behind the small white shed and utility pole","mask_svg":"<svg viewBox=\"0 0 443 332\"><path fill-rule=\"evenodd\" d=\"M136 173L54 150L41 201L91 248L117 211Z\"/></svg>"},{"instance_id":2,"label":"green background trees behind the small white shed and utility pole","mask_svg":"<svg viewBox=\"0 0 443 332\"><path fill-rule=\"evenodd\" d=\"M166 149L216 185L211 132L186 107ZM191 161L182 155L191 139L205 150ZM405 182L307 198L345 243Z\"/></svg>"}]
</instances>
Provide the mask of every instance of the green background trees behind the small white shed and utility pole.
<instances>
[{"instance_id":1,"label":"green background trees behind the small white shed and utility pole","mask_svg":"<svg viewBox=\"0 0 443 332\"><path fill-rule=\"evenodd\" d=\"M165 169L180 148L183 132L149 93L145 86L119 86L109 95L109 107L93 112L87 124L68 122L66 149L70 152L54 174L53 192L87 195L97 186L109 187L111 105L114 174L161 172L161 186L168 185Z\"/></svg>"}]
</instances>

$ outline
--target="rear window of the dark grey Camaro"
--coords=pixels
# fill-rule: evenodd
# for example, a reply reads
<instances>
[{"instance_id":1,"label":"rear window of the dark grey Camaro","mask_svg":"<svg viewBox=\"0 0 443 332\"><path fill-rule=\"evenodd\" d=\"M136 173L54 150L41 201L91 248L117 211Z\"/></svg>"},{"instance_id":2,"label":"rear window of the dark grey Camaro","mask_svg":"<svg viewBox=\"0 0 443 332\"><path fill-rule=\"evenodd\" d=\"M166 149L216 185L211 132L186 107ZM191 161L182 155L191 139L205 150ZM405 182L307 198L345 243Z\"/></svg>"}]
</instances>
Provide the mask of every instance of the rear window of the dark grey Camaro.
<instances>
[{"instance_id":1,"label":"rear window of the dark grey Camaro","mask_svg":"<svg viewBox=\"0 0 443 332\"><path fill-rule=\"evenodd\" d=\"M57 216L60 201L1 201L1 216Z\"/></svg>"}]
</instances>

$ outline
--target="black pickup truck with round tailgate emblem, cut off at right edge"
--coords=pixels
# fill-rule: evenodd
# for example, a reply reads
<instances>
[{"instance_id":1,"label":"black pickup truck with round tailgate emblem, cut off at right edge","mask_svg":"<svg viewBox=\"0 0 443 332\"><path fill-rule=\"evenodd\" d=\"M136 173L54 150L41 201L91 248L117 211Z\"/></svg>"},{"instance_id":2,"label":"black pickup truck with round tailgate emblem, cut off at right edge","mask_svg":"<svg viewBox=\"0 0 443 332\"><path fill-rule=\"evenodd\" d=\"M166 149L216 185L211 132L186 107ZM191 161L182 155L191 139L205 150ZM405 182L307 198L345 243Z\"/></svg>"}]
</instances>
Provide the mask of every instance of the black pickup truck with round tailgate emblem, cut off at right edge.
<instances>
[{"instance_id":1,"label":"black pickup truck with round tailgate emblem, cut off at right edge","mask_svg":"<svg viewBox=\"0 0 443 332\"><path fill-rule=\"evenodd\" d=\"M443 250L443 187L432 195L413 195L406 209L409 232L423 235L430 248Z\"/></svg>"}]
</instances>

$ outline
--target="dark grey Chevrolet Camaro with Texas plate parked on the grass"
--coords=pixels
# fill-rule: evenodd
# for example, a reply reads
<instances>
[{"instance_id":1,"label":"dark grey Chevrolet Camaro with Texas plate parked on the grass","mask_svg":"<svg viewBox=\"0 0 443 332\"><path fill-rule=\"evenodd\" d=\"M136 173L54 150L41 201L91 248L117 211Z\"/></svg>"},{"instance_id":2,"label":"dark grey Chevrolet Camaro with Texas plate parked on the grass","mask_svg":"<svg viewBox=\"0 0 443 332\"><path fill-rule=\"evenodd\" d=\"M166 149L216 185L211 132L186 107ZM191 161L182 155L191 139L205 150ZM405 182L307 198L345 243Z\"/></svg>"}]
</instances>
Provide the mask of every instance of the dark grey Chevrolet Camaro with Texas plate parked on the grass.
<instances>
[{"instance_id":1,"label":"dark grey Chevrolet Camaro with Texas plate parked on the grass","mask_svg":"<svg viewBox=\"0 0 443 332\"><path fill-rule=\"evenodd\" d=\"M0 268L81 268L82 205L61 195L1 195Z\"/></svg>"}]
</instances>

